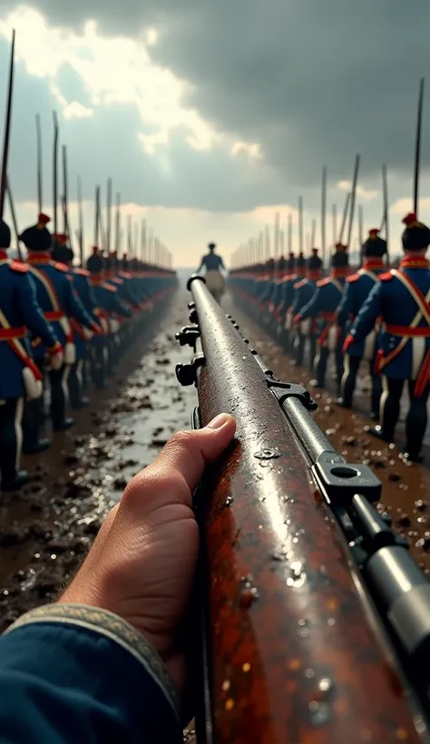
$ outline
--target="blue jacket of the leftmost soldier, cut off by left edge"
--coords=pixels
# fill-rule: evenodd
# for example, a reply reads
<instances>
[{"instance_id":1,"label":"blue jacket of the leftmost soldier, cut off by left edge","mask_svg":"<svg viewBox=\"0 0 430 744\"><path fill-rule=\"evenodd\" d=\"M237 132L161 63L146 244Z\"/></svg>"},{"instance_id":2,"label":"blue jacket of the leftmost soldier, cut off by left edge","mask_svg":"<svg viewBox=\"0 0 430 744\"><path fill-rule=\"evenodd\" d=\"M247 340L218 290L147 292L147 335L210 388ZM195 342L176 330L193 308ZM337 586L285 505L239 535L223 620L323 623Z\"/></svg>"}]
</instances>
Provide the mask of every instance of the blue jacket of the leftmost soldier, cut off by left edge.
<instances>
[{"instance_id":1,"label":"blue jacket of the leftmost soldier, cut off by left edge","mask_svg":"<svg viewBox=\"0 0 430 744\"><path fill-rule=\"evenodd\" d=\"M25 264L0 259L0 308L12 328L26 326L34 336L43 339L44 348L54 347L58 342L54 328L37 303L34 281ZM28 336L18 340L33 357ZM24 396L23 369L24 362L7 341L0 341L0 400Z\"/></svg>"}]
</instances>

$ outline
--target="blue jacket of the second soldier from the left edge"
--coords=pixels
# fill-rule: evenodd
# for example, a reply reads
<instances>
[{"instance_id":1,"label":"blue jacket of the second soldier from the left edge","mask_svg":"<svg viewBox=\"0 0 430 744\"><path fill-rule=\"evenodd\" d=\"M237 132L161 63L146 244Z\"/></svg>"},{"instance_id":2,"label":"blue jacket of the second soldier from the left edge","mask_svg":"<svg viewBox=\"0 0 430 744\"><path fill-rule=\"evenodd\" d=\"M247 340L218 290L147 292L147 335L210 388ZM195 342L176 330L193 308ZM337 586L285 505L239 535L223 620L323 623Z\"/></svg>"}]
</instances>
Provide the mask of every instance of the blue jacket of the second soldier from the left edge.
<instances>
[{"instance_id":1,"label":"blue jacket of the second soldier from the left edge","mask_svg":"<svg viewBox=\"0 0 430 744\"><path fill-rule=\"evenodd\" d=\"M67 318L74 318L85 328L94 330L92 318L86 312L81 300L76 298L73 294L73 285L68 276L67 267L64 266L63 263L55 263L52 261L49 258L49 254L42 253L30 254L28 262L32 278L34 279L37 301L44 314L53 312L54 306L52 299L44 286L44 282L36 276L36 272L38 271L44 274L54 286L60 308L63 310L64 315ZM58 320L53 321L53 326L55 335L64 346L66 343L64 329ZM34 357L36 358L44 357L46 351L43 340L41 342L39 338L34 338L33 342Z\"/></svg>"}]
</instances>

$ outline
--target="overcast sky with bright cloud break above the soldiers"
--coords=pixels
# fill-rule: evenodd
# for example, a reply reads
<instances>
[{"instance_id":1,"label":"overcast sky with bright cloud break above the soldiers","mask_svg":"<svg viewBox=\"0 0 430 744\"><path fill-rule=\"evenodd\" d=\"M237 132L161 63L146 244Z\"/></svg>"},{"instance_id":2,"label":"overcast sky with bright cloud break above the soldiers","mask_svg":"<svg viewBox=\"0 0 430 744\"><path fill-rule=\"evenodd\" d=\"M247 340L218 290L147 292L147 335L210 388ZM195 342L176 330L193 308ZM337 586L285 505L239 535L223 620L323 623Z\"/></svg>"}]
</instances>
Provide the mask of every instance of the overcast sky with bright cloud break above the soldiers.
<instances>
[{"instance_id":1,"label":"overcast sky with bright cloud break above the soldiers","mask_svg":"<svg viewBox=\"0 0 430 744\"><path fill-rule=\"evenodd\" d=\"M412 207L419 78L430 69L430 5L415 0L0 0L0 112L16 29L9 173L20 227L36 216L35 113L44 130L44 210L52 203L52 112L69 153L71 218L83 181L85 235L108 176L125 226L146 218L177 265L215 240L226 259L273 225L305 233L342 210L356 152L366 229L381 221L387 163L392 250ZM430 220L430 91L421 210ZM327 218L331 240L331 217ZM354 241L357 241L355 230ZM295 246L297 235L295 227ZM318 240L317 240L318 243Z\"/></svg>"}]
</instances>

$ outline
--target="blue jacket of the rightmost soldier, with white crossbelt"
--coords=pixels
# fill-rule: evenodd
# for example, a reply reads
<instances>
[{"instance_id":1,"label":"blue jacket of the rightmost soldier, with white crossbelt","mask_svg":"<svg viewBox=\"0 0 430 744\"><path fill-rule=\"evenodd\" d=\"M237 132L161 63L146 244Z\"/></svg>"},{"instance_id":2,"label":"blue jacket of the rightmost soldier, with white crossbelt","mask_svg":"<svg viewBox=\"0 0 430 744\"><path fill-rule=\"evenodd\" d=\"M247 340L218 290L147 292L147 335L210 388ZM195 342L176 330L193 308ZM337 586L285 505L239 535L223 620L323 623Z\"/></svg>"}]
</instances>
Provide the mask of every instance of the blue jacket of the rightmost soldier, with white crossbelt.
<instances>
[{"instance_id":1,"label":"blue jacket of the rightmost soldier, with white crossbelt","mask_svg":"<svg viewBox=\"0 0 430 744\"><path fill-rule=\"evenodd\" d=\"M365 304L358 313L358 317L351 328L351 336L357 343L366 338L375 326L376 318L382 318L378 351L378 370L386 377L394 379L416 379L424 361L425 353L430 349L430 338L407 338L407 329L418 313L418 306L409 289L407 289L395 274L387 271L380 275L380 281L372 289ZM426 296L430 290L429 263L424 258L409 257L400 263L399 271L410 277L422 295ZM430 323L421 318L417 324L424 329ZM398 333L390 332L388 327L397 327ZM404 328L402 331L401 329ZM401 351L385 364L388 355L395 352L401 344ZM355 345L355 344L354 344ZM349 347L348 351L353 347ZM382 366L381 366L382 362Z\"/></svg>"}]
</instances>

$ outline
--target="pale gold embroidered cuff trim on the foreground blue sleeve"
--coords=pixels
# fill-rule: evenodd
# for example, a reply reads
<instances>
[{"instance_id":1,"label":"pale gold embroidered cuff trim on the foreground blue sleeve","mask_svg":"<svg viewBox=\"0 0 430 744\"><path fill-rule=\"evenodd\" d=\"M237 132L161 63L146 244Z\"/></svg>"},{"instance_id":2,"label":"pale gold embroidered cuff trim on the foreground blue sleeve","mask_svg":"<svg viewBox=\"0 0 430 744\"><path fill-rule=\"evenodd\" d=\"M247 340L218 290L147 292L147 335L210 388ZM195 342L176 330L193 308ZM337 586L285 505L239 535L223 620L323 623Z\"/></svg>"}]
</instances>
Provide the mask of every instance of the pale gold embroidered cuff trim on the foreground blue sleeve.
<instances>
[{"instance_id":1,"label":"pale gold embroidered cuff trim on the foreground blue sleeve","mask_svg":"<svg viewBox=\"0 0 430 744\"><path fill-rule=\"evenodd\" d=\"M4 635L35 622L60 622L75 625L99 633L118 643L125 651L131 653L137 661L140 661L145 670L151 674L152 679L161 688L161 691L171 703L175 715L179 718L178 691L174 687L160 656L157 651L154 651L142 633L136 631L129 622L122 620L113 612L86 604L45 604L42 607L36 607L35 610L25 612L7 628Z\"/></svg>"}]
</instances>

